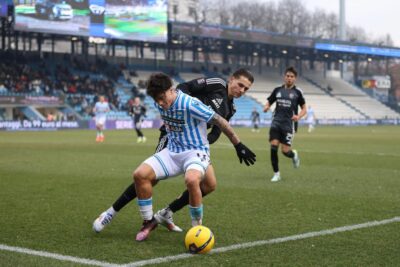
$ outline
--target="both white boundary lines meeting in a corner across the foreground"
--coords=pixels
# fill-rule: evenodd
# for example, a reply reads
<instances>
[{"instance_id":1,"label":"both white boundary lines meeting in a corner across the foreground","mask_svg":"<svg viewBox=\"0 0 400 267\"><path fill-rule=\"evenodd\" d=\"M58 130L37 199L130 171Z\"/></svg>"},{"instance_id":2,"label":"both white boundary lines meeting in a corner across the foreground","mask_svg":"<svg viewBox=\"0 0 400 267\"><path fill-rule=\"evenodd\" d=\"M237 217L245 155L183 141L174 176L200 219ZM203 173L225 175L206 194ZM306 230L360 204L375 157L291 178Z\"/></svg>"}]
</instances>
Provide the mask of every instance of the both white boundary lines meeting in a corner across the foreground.
<instances>
[{"instance_id":1,"label":"both white boundary lines meeting in a corner across the foreground","mask_svg":"<svg viewBox=\"0 0 400 267\"><path fill-rule=\"evenodd\" d=\"M216 248L216 249L212 250L210 252L210 254L223 253L223 252L227 252L227 251L257 247L257 246L263 246L263 245L278 244L278 243L283 243L283 242L288 242L288 241L295 241L295 240L317 237L317 236L333 235L336 233L353 231L353 230L362 229L362 228L375 227L375 226L380 226L380 225L385 225L385 224L390 224L390 223L395 223L395 222L400 222L400 217L393 217L391 219L386 219L386 220L382 220L382 221L371 221L371 222L347 225L347 226L342 226L342 227L337 227L337 228L332 228L332 229L327 229L327 230L322 230L322 231L308 232L308 233L304 233L304 234L291 235L291 236L286 236L286 237L279 237L279 238L274 238L274 239L270 239L270 240L259 240L259 241L254 241L254 242L236 244L236 245L232 245L232 246ZM104 262L104 261L97 261L97 260L77 258L77 257L72 257L72 256L65 256L65 255L50 253L50 252L46 252L46 251L38 251L38 250L32 250L32 249L20 248L20 247L11 247L11 246L2 245L2 244L0 244L0 250L18 252L18 253L23 253L23 254L28 254L28 255L40 256L40 257L46 257L46 258L51 258L51 259L60 260L60 261L69 261L69 262L75 262L75 263L80 263L80 264L93 265L93 266L104 266L104 267L136 267L136 266L145 266L145 265L149 265L149 264L159 264L159 263L165 263L165 262L170 262L170 261L177 261L177 260L181 260L181 259L187 259L190 257L201 257L199 255L182 253L182 254L178 254L178 255L154 258L154 259L149 259L149 260L134 261L134 262L127 263L127 264L114 264L114 263L109 263L109 262Z\"/></svg>"}]
</instances>

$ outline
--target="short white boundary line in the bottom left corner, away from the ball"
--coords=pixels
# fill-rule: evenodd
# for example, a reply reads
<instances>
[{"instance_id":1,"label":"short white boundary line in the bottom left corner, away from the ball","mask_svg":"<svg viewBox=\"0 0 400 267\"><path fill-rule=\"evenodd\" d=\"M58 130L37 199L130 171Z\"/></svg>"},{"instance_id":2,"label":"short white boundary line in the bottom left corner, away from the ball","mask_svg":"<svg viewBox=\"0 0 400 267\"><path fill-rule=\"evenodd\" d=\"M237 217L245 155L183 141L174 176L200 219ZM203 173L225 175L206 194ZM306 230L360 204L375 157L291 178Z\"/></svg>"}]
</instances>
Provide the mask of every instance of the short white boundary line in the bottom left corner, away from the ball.
<instances>
[{"instance_id":1,"label":"short white boundary line in the bottom left corner, away from the ball","mask_svg":"<svg viewBox=\"0 0 400 267\"><path fill-rule=\"evenodd\" d=\"M2 244L0 244L0 250L18 252L18 253L34 255L34 256L39 256L39 257L45 257L45 258L51 258L51 259L60 260L60 261L70 261L70 262L92 265L92 266L103 266L103 267L120 266L118 264L104 262L104 261L83 259L83 258L65 256L65 255L56 254L56 253L50 253L50 252L46 252L46 251L32 250L32 249L20 248L20 247L11 247L11 246L6 246L6 245L2 245Z\"/></svg>"}]
</instances>

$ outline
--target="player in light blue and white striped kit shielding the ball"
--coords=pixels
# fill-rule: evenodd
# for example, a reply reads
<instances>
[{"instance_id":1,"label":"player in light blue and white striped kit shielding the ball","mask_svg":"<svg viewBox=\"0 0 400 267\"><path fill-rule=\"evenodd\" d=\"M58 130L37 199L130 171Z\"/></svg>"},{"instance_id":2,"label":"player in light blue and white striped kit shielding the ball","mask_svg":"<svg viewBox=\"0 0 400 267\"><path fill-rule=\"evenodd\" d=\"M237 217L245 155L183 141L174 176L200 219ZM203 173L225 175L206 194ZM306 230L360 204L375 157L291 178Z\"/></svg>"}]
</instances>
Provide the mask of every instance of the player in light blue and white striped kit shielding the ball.
<instances>
[{"instance_id":1,"label":"player in light blue and white striped kit shielding the ball","mask_svg":"<svg viewBox=\"0 0 400 267\"><path fill-rule=\"evenodd\" d=\"M147 82L147 94L155 101L166 125L169 141L167 148L146 159L133 173L143 218L142 229L136 235L137 241L147 239L150 231L157 226L152 220L152 187L159 179L184 174L192 225L201 224L203 204L200 187L208 182L204 175L207 168L212 168L207 123L221 129L234 145L240 160L255 161L255 154L240 142L224 118L198 99L176 90L169 76L163 73L151 75Z\"/></svg>"}]
</instances>

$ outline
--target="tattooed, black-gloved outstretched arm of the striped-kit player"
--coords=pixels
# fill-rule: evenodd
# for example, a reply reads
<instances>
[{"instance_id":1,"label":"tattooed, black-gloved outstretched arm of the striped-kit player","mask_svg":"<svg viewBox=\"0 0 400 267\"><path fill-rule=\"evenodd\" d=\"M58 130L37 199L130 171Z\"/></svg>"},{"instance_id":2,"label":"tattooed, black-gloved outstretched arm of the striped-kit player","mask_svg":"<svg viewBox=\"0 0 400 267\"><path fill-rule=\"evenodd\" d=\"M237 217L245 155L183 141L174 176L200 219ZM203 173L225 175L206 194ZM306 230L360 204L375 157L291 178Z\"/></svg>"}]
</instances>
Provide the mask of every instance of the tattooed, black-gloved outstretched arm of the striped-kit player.
<instances>
[{"instance_id":1,"label":"tattooed, black-gloved outstretched arm of the striped-kit player","mask_svg":"<svg viewBox=\"0 0 400 267\"><path fill-rule=\"evenodd\" d=\"M249 166L256 162L256 154L253 153L248 147L240 142L239 136L235 133L232 126L229 125L228 121L217 113L209 121L211 124L217 125L221 131L229 138L231 143L235 146L236 154L239 157L240 163L244 163Z\"/></svg>"}]
</instances>

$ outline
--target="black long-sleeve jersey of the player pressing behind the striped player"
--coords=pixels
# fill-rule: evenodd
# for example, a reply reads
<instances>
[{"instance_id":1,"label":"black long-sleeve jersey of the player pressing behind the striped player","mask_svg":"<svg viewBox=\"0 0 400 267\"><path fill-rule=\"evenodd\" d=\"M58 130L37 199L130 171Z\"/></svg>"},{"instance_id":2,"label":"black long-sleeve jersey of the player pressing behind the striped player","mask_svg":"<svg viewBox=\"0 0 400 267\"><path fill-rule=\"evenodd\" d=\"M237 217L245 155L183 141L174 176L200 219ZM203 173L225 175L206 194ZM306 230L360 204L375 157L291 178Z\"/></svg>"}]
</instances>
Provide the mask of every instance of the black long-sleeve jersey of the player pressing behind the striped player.
<instances>
[{"instance_id":1,"label":"black long-sleeve jersey of the player pressing behind the striped player","mask_svg":"<svg viewBox=\"0 0 400 267\"><path fill-rule=\"evenodd\" d=\"M229 121L236 112L233 99L228 98L227 84L221 78L194 79L178 84L177 88L190 96L198 98L227 121ZM221 135L221 129L216 125L208 125L208 127L212 127L207 136L208 142L212 144L217 141Z\"/></svg>"}]
</instances>

